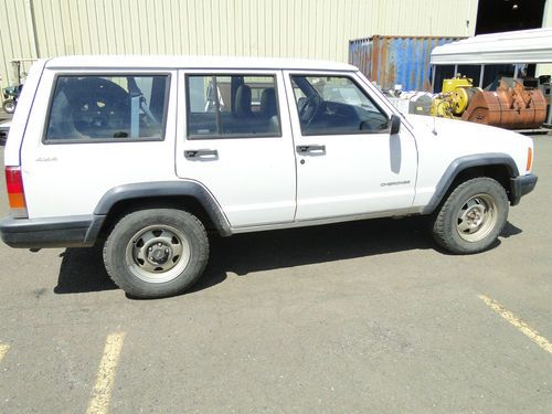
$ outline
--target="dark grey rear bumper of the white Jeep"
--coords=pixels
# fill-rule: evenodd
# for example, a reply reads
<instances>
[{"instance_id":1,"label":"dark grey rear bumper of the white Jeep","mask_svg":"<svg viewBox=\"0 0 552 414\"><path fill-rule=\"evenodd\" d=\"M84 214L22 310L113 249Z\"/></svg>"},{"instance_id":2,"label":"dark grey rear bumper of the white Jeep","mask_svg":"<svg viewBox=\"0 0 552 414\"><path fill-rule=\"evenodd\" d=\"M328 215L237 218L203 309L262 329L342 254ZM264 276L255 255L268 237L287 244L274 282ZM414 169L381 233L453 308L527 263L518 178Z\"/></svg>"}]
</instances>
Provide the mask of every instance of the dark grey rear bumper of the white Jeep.
<instances>
[{"instance_id":1,"label":"dark grey rear bumper of the white Jeep","mask_svg":"<svg viewBox=\"0 0 552 414\"><path fill-rule=\"evenodd\" d=\"M2 241L11 247L89 247L96 242L104 215L0 220Z\"/></svg>"}]
</instances>

